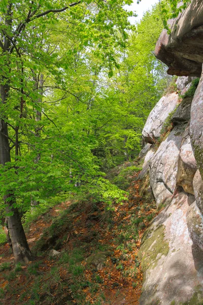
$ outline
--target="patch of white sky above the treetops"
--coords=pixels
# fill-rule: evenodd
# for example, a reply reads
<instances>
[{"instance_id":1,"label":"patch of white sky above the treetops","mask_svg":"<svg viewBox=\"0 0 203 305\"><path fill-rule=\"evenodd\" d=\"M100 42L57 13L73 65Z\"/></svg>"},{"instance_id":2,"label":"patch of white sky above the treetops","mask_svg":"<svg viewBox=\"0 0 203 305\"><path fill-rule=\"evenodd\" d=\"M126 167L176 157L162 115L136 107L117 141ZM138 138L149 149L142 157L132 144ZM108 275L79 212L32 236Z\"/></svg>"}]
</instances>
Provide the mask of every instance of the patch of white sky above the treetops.
<instances>
[{"instance_id":1,"label":"patch of white sky above the treetops","mask_svg":"<svg viewBox=\"0 0 203 305\"><path fill-rule=\"evenodd\" d=\"M135 21L139 21L142 18L143 14L148 9L151 9L152 5L156 4L157 2L158 0L142 0L140 4L137 4L137 0L133 0L133 4L130 7L126 6L126 9L130 11L136 11L138 17L130 17L130 22L134 23Z\"/></svg>"}]
</instances>

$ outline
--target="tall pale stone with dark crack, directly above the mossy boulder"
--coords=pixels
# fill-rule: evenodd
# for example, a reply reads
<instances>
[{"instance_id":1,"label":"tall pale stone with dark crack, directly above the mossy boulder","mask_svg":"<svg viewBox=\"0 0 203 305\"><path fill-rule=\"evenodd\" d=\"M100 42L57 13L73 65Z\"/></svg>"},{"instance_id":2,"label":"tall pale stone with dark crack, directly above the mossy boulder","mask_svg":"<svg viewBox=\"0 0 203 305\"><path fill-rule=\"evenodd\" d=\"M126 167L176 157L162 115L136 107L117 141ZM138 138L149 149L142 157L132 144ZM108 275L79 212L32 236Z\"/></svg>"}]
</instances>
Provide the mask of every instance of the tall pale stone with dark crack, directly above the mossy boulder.
<instances>
[{"instance_id":1,"label":"tall pale stone with dark crack, directly above the mossy boulder","mask_svg":"<svg viewBox=\"0 0 203 305\"><path fill-rule=\"evenodd\" d=\"M185 125L180 125L163 141L150 162L150 185L157 206L171 200L176 189L178 159Z\"/></svg>"}]
</instances>

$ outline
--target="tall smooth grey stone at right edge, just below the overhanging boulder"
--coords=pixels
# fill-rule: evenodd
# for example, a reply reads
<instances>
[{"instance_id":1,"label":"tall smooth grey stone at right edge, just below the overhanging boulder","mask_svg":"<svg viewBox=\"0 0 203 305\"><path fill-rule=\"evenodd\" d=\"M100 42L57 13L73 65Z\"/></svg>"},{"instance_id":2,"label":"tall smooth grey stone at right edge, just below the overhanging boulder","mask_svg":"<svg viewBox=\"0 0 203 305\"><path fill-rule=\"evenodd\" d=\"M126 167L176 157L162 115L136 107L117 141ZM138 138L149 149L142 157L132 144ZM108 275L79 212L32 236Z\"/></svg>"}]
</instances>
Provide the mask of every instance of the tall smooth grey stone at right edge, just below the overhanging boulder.
<instances>
[{"instance_id":1,"label":"tall smooth grey stone at right edge, just below the overhanging boulder","mask_svg":"<svg viewBox=\"0 0 203 305\"><path fill-rule=\"evenodd\" d=\"M203 73L192 101L190 137L197 167L203 179Z\"/></svg>"}]
</instances>

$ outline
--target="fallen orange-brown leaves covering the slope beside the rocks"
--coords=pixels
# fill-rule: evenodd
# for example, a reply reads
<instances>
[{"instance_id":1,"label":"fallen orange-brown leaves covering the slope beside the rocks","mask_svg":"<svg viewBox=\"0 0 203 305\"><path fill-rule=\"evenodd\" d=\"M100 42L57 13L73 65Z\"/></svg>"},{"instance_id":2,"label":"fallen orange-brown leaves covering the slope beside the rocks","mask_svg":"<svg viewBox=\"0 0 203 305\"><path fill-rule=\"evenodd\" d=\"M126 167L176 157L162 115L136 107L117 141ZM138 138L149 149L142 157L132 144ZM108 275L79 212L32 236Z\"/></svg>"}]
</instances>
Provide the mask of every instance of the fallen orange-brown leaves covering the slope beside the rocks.
<instances>
[{"instance_id":1,"label":"fallen orange-brown leaves covering the slope beside the rocks","mask_svg":"<svg viewBox=\"0 0 203 305\"><path fill-rule=\"evenodd\" d=\"M1 272L0 288L5 292L4 305L11 303L138 305L143 280L138 251L142 234L149 224L148 217L157 214L154 204L146 205L139 197L138 191L139 181L133 182L129 189L128 201L123 205L115 205L110 211L103 203L95 204L91 200L86 204L76 205L71 214L72 229L66 232L58 251L72 253L77 247L83 249L84 257L80 262L84 270L82 276L74 278L70 271L70 262L59 264L58 259L50 259L45 253L45 257L38 258L30 265L22 266L21 271L16 272L13 278L11 270ZM46 215L41 216L32 224L27 233L30 248L36 246L45 227L51 226L59 212L67 209L70 204L71 202L65 202L55 206L50 209L48 218ZM48 221L45 222L45 218ZM140 230L138 230L139 224L142 224ZM92 253L99 251L106 251L108 255L103 268L97 270L95 266L88 264L86 259ZM8 253L8 245L0 247L0 263L13 262L12 254ZM54 276L56 277L54 270L57 272L57 280L53 280ZM39 276L37 284L35 273ZM81 291L78 291L84 296L82 301L76 299L72 289L74 279L87 283L81 285ZM12 292L9 287L12 287ZM36 302L31 302L33 287L38 289L39 297ZM97 302L98 300L100 302Z\"/></svg>"}]
</instances>

